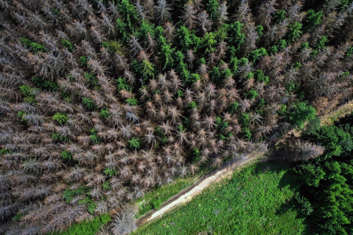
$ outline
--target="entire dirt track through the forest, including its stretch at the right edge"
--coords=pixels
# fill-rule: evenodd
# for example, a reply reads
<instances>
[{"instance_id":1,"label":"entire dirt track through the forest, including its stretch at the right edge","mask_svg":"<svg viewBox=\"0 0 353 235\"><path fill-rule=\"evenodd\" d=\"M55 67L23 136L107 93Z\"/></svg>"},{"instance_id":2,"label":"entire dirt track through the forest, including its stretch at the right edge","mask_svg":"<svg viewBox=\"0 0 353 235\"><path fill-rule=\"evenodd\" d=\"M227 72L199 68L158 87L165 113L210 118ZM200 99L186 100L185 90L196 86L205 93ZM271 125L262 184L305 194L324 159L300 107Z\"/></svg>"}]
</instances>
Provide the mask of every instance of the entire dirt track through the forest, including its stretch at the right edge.
<instances>
[{"instance_id":1,"label":"entire dirt track through the forest, including its stretch at the right edge","mask_svg":"<svg viewBox=\"0 0 353 235\"><path fill-rule=\"evenodd\" d=\"M348 111L353 110L353 101L349 100L347 103L338 106L335 110L332 110L330 113L320 116L321 119L327 118L340 110ZM295 131L294 129L291 131ZM235 170L240 169L241 166L245 164L250 164L257 160L260 160L259 153L250 153L243 157L242 159L234 159L229 161L222 167L216 169L215 171L205 175L202 179L198 180L195 184L185 188L183 191L169 198L166 202L164 202L160 208L152 210L139 217L136 221L136 229L143 226L146 223L149 223L157 218L162 217L166 212L169 212L176 208L179 205L185 204L189 202L193 197L200 194L205 188L210 186L211 184L217 183L222 179L230 178ZM261 160L264 160L261 159Z\"/></svg>"}]
</instances>

